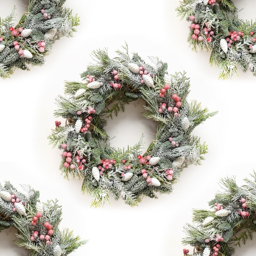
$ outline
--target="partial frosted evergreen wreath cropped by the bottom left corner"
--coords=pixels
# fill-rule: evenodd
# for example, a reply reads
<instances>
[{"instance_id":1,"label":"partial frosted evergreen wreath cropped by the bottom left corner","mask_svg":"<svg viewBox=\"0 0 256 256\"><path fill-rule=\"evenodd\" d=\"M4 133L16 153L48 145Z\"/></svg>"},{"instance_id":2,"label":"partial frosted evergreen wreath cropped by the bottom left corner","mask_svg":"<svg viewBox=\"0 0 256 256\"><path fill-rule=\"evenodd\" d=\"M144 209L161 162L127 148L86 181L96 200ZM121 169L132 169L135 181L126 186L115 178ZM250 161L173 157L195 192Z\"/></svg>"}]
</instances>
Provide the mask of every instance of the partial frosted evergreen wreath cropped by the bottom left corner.
<instances>
[{"instance_id":1,"label":"partial frosted evergreen wreath cropped by the bottom left corner","mask_svg":"<svg viewBox=\"0 0 256 256\"><path fill-rule=\"evenodd\" d=\"M30 249L30 256L70 254L86 243L73 231L59 229L61 207L57 200L40 202L39 191L23 185L23 193L10 182L0 184L0 230L15 227L16 245Z\"/></svg>"}]
</instances>

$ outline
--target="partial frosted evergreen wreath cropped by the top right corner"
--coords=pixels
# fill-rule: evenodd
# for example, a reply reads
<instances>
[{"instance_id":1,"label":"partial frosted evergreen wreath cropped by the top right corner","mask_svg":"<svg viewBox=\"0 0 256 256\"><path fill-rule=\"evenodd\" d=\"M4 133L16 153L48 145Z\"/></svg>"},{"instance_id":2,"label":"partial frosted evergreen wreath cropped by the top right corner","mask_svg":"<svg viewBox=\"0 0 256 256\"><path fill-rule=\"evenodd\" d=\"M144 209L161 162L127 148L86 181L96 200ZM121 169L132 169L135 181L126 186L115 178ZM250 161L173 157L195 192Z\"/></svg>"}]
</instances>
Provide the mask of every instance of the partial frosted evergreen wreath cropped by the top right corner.
<instances>
[{"instance_id":1,"label":"partial frosted evergreen wreath cropped by the top right corner","mask_svg":"<svg viewBox=\"0 0 256 256\"><path fill-rule=\"evenodd\" d=\"M221 79L237 74L237 65L256 76L256 22L240 20L232 0L184 0L176 11L191 22L192 49L211 51L209 62Z\"/></svg>"}]
</instances>

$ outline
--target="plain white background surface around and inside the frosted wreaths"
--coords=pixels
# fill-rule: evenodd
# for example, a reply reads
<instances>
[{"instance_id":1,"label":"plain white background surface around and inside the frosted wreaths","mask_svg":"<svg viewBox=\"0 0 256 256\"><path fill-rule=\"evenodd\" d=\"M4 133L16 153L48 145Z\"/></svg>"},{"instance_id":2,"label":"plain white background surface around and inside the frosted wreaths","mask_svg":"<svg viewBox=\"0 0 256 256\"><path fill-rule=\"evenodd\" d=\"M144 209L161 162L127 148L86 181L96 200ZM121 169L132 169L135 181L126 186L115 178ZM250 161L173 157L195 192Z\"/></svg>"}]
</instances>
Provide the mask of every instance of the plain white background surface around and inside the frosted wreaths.
<instances>
[{"instance_id":1,"label":"plain white background surface around and inside the frosted wreaths","mask_svg":"<svg viewBox=\"0 0 256 256\"><path fill-rule=\"evenodd\" d=\"M9 15L15 4L17 20L26 11L21 3L28 3L0 2L0 16ZM234 2L238 9L244 8L239 18L255 19L253 0ZM0 79L0 181L9 180L16 187L30 184L40 191L43 202L58 199L63 209L61 227L89 240L72 256L182 256L183 248L192 252L192 247L181 243L192 209L208 208L207 202L220 190L220 178L234 175L243 184L256 169L256 77L238 69L240 76L219 80L219 70L209 65L210 53L191 51L189 22L177 17L178 5L178 0L67 0L65 7L81 20L74 37L56 41L42 67L16 70L10 79ZM94 209L90 196L81 193L82 181L61 176L61 150L53 149L47 137L54 128L55 98L63 94L64 81L81 81L80 74L92 62L92 50L106 47L114 57L125 42L130 53L138 52L144 59L158 56L167 62L169 73L186 71L191 81L189 98L219 113L193 131L206 141L209 153L202 165L184 169L173 193L159 195L157 200L144 198L133 208L110 198L111 205ZM155 123L141 118L142 105L131 103L124 114L109 120L107 132L115 136L112 146L132 146L144 133L147 148ZM11 228L0 233L0 256L28 255L14 245L15 232ZM252 245L248 241L236 248L235 256L252 255Z\"/></svg>"}]
</instances>

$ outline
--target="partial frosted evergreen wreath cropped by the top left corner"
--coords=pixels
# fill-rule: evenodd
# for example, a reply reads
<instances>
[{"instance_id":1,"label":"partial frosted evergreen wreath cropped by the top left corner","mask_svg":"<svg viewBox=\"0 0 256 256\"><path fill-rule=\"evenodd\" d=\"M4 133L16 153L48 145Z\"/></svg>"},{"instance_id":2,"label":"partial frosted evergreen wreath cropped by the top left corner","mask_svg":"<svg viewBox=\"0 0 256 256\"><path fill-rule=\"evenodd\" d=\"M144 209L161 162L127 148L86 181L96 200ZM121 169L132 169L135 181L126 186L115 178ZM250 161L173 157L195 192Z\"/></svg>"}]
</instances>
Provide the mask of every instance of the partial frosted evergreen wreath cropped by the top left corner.
<instances>
[{"instance_id":1,"label":"partial frosted evergreen wreath cropped by the top left corner","mask_svg":"<svg viewBox=\"0 0 256 256\"><path fill-rule=\"evenodd\" d=\"M15 7L0 18L0 76L7 78L16 68L43 65L52 44L61 36L72 36L79 18L63 8L65 0L29 0L28 9L16 26Z\"/></svg>"}]
</instances>

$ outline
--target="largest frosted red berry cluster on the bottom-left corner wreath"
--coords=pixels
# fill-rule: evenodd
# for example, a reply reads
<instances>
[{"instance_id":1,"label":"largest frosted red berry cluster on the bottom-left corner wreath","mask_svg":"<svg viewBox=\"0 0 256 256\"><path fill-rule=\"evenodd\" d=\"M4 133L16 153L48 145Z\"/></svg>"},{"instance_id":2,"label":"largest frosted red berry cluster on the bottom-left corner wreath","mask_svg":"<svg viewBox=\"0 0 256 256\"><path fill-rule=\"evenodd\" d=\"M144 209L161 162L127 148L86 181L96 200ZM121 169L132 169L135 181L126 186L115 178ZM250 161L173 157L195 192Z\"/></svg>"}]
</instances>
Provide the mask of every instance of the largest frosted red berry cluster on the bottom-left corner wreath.
<instances>
[{"instance_id":1,"label":"largest frosted red berry cluster on the bottom-left corner wreath","mask_svg":"<svg viewBox=\"0 0 256 256\"><path fill-rule=\"evenodd\" d=\"M40 219L41 213L38 212L36 213L36 216L32 217L31 225L36 226L37 221ZM52 229L52 225L49 222L44 223L45 229L40 230L40 235L37 230L32 231L32 236L30 237L30 240L32 242L39 242L40 240L46 240L46 244L49 245L51 244L51 236L53 235L54 231Z\"/></svg>"}]
</instances>

